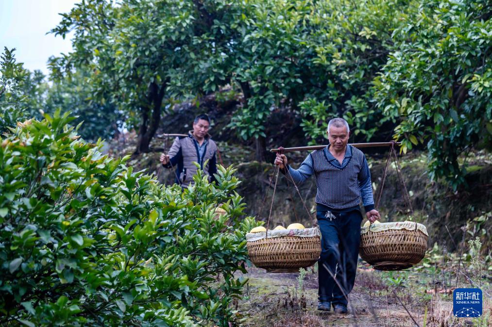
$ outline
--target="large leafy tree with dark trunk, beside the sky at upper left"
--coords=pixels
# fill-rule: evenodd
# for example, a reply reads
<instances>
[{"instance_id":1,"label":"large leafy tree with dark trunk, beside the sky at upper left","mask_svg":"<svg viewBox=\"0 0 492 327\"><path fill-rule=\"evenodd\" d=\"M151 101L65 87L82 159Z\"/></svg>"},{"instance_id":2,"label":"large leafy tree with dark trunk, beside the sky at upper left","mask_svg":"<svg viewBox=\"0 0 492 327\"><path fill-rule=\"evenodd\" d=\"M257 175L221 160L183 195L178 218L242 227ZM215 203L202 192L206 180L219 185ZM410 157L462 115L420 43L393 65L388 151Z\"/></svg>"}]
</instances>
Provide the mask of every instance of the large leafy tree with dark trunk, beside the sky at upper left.
<instances>
[{"instance_id":1,"label":"large leafy tree with dark trunk, beside the sky at upper left","mask_svg":"<svg viewBox=\"0 0 492 327\"><path fill-rule=\"evenodd\" d=\"M63 14L52 31L64 37L75 30L75 51L52 59L53 76L60 78L74 68L91 71L87 81L94 97L123 111L129 127L138 129L136 152L149 151L167 105L191 91L215 90L219 81L225 83L223 74L203 58L222 53L210 35L221 33L216 18L226 14L228 3L84 1ZM204 72L196 74L197 67Z\"/></svg>"}]
</instances>

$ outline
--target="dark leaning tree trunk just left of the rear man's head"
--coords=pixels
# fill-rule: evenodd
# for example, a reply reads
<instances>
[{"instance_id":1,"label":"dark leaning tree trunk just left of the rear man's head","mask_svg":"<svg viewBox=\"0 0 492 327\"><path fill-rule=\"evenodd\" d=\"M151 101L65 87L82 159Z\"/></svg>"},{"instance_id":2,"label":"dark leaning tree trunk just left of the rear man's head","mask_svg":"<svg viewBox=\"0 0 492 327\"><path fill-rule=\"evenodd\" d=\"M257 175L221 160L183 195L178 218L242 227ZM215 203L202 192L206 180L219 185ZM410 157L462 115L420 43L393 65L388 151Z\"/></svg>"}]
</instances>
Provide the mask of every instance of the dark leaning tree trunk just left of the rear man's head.
<instances>
[{"instance_id":1,"label":"dark leaning tree trunk just left of the rear man's head","mask_svg":"<svg viewBox=\"0 0 492 327\"><path fill-rule=\"evenodd\" d=\"M154 82L149 87L149 104L142 107L142 121L138 130L137 148L135 154L149 152L152 138L159 127L160 122L160 110L162 107L162 99L164 98L164 91L167 86L167 81L159 86ZM149 118L149 114L152 110L152 116Z\"/></svg>"}]
</instances>

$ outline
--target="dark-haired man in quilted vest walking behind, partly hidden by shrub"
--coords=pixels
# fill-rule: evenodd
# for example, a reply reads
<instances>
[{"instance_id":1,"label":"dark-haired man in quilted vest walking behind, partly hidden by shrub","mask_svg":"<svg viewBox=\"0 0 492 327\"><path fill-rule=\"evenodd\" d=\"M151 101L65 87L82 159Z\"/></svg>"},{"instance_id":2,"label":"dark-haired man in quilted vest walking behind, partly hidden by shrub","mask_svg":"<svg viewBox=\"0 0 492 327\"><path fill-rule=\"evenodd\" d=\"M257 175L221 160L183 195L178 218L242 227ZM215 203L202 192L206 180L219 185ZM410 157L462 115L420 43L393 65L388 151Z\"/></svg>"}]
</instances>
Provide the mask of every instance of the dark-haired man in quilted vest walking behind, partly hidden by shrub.
<instances>
[{"instance_id":1,"label":"dark-haired man in quilted vest walking behind, partly hidden by shrub","mask_svg":"<svg viewBox=\"0 0 492 327\"><path fill-rule=\"evenodd\" d=\"M188 136L177 137L168 154L160 156L160 162L164 167L176 167L176 183L182 187L188 187L189 184L194 183L193 176L197 168L193 162L200 165L203 172L209 176L209 181L215 181L217 145L208 133L209 128L209 117L206 114L198 115L193 121L193 130L188 132Z\"/></svg>"}]
</instances>

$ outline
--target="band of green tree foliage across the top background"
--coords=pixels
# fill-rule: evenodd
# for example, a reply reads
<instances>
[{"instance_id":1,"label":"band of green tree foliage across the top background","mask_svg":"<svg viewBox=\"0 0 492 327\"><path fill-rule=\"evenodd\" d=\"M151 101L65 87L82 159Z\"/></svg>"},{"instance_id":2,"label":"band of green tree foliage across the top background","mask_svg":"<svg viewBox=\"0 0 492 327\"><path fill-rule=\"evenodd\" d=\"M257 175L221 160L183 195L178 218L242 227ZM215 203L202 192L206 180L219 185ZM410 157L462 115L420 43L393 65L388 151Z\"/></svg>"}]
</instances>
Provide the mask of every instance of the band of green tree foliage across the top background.
<instances>
[{"instance_id":1,"label":"band of green tree foliage across the top background","mask_svg":"<svg viewBox=\"0 0 492 327\"><path fill-rule=\"evenodd\" d=\"M228 128L257 141L258 159L277 108L302 117L309 143L343 117L352 142L426 147L431 177L456 189L466 169L458 156L490 150L488 2L87 0L52 30L73 30L74 51L51 59L55 84L37 107L71 109L89 121L88 139L124 120L146 152L173 104L229 85L244 99ZM9 72L7 84L19 83Z\"/></svg>"}]
</instances>

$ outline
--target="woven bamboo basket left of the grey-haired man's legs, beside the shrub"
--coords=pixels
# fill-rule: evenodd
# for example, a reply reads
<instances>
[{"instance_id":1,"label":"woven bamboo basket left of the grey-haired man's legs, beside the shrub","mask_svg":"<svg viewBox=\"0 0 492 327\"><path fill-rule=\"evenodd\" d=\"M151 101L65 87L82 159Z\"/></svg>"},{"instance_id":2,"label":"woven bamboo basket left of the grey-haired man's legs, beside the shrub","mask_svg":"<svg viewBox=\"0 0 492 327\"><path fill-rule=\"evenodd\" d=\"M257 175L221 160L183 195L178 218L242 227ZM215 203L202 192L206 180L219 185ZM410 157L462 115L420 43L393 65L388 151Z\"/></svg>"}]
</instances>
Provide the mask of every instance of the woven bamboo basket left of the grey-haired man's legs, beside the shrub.
<instances>
[{"instance_id":1,"label":"woven bamboo basket left of the grey-haired man's legs, beside the shrub","mask_svg":"<svg viewBox=\"0 0 492 327\"><path fill-rule=\"evenodd\" d=\"M246 242L249 259L267 272L298 272L319 259L321 239L318 236L282 236Z\"/></svg>"}]
</instances>

